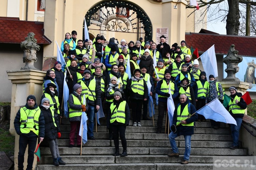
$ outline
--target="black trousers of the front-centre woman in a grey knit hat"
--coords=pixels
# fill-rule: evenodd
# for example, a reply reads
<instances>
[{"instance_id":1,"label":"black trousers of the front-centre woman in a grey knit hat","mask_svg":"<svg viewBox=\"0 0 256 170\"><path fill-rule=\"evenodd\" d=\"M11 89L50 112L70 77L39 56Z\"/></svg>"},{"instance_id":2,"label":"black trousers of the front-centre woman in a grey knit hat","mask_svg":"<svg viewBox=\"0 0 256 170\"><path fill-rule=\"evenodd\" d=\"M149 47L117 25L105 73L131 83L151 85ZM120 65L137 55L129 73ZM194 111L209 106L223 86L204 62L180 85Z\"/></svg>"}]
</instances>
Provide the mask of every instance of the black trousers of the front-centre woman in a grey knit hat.
<instances>
[{"instance_id":1,"label":"black trousers of the front-centre woman in a grey knit hat","mask_svg":"<svg viewBox=\"0 0 256 170\"><path fill-rule=\"evenodd\" d=\"M113 130L113 136L114 136L114 144L115 144L115 149L119 149L119 136L121 139L121 143L123 146L123 151L127 150L127 142L125 138L125 130L126 130L126 125L125 124L111 124L112 130Z\"/></svg>"}]
</instances>

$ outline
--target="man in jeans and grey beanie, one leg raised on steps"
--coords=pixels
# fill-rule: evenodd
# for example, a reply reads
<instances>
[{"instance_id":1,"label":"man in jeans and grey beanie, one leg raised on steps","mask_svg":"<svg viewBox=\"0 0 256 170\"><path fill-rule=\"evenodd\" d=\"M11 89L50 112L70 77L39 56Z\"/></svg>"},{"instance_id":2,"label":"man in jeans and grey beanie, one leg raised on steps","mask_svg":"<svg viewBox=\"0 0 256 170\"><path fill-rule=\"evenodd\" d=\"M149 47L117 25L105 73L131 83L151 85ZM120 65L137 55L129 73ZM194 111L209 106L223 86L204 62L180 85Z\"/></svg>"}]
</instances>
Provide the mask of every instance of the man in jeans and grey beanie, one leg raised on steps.
<instances>
[{"instance_id":1,"label":"man in jeans and grey beanie, one leg raised on steps","mask_svg":"<svg viewBox=\"0 0 256 170\"><path fill-rule=\"evenodd\" d=\"M191 117L188 118L189 116ZM176 146L175 138L183 135L185 139L185 152L183 161L181 162L182 165L189 163L189 156L191 152L191 136L194 134L194 122L197 120L197 118L198 116L196 113L196 107L193 104L189 104L189 99L185 94L181 94L180 102L175 107L172 119L172 124L176 125L176 132L172 131L169 134L169 141L172 147L172 153L167 155L169 157L179 157L180 153L179 149Z\"/></svg>"}]
</instances>

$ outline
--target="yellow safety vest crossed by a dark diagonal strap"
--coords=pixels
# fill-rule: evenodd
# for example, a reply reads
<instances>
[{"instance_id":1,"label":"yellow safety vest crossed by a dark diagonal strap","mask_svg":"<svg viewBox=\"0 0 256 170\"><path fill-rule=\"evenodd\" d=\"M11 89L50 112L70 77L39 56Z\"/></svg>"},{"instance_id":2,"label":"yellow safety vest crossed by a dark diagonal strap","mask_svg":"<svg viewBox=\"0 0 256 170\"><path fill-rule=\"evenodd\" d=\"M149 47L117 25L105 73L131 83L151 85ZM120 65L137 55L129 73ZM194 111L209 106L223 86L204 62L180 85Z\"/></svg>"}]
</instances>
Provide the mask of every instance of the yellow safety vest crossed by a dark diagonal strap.
<instances>
[{"instance_id":1,"label":"yellow safety vest crossed by a dark diagonal strap","mask_svg":"<svg viewBox=\"0 0 256 170\"><path fill-rule=\"evenodd\" d=\"M86 86L84 81L81 81L81 86L82 86L82 94L85 94L85 98L86 99L88 98L91 101L95 101L96 100L96 93L95 93L96 81L92 79L89 83L89 87Z\"/></svg>"}]
</instances>

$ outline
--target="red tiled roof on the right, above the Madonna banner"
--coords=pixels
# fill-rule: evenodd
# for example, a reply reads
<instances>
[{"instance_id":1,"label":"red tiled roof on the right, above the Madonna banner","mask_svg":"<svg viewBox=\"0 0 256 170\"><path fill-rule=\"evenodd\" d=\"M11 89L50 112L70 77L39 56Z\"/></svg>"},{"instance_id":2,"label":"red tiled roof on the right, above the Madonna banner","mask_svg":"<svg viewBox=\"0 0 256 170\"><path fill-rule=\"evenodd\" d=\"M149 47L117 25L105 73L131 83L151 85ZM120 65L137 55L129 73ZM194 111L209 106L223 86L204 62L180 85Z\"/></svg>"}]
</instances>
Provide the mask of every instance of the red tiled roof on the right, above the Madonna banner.
<instances>
[{"instance_id":1,"label":"red tiled roof on the right, above the Madonna banner","mask_svg":"<svg viewBox=\"0 0 256 170\"><path fill-rule=\"evenodd\" d=\"M218 35L190 33L185 35L188 48L198 49L198 52L205 52L212 45L215 45L216 54L227 54L231 44L235 45L238 54L242 56L256 56L256 37L237 35Z\"/></svg>"}]
</instances>

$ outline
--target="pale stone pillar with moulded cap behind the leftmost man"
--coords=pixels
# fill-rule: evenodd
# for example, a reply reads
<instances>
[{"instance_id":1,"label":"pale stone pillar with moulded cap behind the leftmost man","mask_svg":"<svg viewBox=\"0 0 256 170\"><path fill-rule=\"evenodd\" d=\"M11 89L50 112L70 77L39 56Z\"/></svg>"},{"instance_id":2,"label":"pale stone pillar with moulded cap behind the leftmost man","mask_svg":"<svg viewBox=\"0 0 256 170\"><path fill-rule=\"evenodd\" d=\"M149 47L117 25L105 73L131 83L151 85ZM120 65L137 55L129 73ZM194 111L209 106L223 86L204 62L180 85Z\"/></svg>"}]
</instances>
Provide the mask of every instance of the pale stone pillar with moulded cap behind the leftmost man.
<instances>
[{"instance_id":1,"label":"pale stone pillar with moulded cap behind the leftmost man","mask_svg":"<svg viewBox=\"0 0 256 170\"><path fill-rule=\"evenodd\" d=\"M28 95L34 95L37 99L37 103L40 102L43 94L43 78L45 77L46 72L39 70L10 70L6 72L8 79L12 82L10 133L15 135L14 168L18 169L19 135L16 134L13 122L19 108L26 104ZM27 167L27 158L28 152L26 150L24 156L24 169ZM37 158L35 157L33 168L35 168L36 164Z\"/></svg>"}]
</instances>

